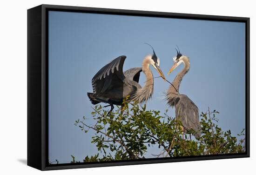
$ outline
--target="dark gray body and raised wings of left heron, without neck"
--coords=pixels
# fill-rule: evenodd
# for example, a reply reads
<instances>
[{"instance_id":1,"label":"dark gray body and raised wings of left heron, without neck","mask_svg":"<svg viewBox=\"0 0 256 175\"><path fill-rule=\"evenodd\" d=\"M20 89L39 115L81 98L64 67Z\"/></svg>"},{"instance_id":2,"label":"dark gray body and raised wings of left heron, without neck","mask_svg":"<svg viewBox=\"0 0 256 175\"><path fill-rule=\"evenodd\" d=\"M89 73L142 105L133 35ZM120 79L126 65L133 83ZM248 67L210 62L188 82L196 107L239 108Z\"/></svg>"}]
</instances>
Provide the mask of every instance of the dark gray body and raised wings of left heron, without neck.
<instances>
[{"instance_id":1,"label":"dark gray body and raised wings of left heron, without neck","mask_svg":"<svg viewBox=\"0 0 256 175\"><path fill-rule=\"evenodd\" d=\"M126 56L119 56L102 67L92 79L93 93L88 97L93 104L105 102L121 105L123 99L135 94L141 88L139 82L141 67L135 67L123 72Z\"/></svg>"}]
</instances>

